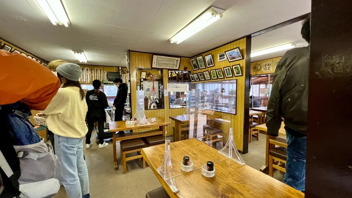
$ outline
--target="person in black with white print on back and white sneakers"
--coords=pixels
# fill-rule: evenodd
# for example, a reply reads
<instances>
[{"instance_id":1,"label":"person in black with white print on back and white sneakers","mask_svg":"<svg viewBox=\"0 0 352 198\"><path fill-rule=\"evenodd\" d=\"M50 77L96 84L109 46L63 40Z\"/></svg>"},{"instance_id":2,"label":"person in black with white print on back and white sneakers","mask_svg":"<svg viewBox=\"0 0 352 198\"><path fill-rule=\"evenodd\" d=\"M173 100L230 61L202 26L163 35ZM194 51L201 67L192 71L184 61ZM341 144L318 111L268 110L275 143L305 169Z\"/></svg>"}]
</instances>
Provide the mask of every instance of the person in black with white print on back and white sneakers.
<instances>
[{"instance_id":1,"label":"person in black with white print on back and white sneakers","mask_svg":"<svg viewBox=\"0 0 352 198\"><path fill-rule=\"evenodd\" d=\"M86 94L86 102L88 105L88 132L86 135L86 148L90 148L91 146L93 146L93 143L90 142L90 137L92 136L92 131L95 122L98 122L98 130L101 133L101 135L99 136L99 148L108 146L108 143L104 142L104 137L102 134L104 133L104 122L106 122L105 109L109 105L105 93L99 90L100 86L100 80L94 80L94 89L87 91Z\"/></svg>"}]
</instances>

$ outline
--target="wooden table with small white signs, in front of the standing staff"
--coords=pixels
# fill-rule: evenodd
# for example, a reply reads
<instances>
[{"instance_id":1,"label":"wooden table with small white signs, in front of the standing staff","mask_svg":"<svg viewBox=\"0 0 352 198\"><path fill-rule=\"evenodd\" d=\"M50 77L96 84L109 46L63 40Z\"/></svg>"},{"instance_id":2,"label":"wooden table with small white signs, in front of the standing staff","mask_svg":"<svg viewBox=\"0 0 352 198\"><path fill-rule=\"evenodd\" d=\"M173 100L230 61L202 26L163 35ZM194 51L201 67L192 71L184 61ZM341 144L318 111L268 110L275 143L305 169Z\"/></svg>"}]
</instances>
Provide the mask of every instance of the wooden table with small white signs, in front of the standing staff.
<instances>
[{"instance_id":1,"label":"wooden table with small white signs, in front of the standing staff","mask_svg":"<svg viewBox=\"0 0 352 198\"><path fill-rule=\"evenodd\" d=\"M117 121L117 122L109 122L109 130L110 132L117 132L117 131L127 131L127 130L136 130L136 129L144 129L144 128L150 128L150 127L159 127L159 131L145 131L145 132L131 132L128 134L123 134L123 135L112 135L112 141L113 141L113 155L114 155L114 167L115 171L119 169L119 165L117 163L117 156L116 156L116 141L122 141L122 140L130 140L130 139L135 139L135 138L141 138L141 137L149 137L149 136L154 136L154 135L161 135L165 136L165 126L171 124L171 122L165 122L165 119L162 117L156 117L155 122L151 122L151 118L148 119L148 122L150 124L147 125L140 125L134 124L134 125L126 125L126 121ZM160 133L160 131L162 131ZM118 137L117 137L118 136Z\"/></svg>"}]
</instances>

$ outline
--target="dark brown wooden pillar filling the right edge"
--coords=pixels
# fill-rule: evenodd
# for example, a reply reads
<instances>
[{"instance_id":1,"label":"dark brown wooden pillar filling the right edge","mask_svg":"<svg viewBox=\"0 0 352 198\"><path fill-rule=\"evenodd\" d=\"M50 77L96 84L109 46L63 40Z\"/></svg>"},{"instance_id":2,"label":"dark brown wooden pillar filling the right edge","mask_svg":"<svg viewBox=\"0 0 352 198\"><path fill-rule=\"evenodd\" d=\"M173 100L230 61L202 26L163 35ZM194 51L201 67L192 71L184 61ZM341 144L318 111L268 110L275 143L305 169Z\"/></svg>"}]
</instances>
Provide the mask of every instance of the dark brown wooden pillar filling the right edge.
<instances>
[{"instance_id":1,"label":"dark brown wooden pillar filling the right edge","mask_svg":"<svg viewBox=\"0 0 352 198\"><path fill-rule=\"evenodd\" d=\"M306 198L352 197L352 2L312 0Z\"/></svg>"}]
</instances>

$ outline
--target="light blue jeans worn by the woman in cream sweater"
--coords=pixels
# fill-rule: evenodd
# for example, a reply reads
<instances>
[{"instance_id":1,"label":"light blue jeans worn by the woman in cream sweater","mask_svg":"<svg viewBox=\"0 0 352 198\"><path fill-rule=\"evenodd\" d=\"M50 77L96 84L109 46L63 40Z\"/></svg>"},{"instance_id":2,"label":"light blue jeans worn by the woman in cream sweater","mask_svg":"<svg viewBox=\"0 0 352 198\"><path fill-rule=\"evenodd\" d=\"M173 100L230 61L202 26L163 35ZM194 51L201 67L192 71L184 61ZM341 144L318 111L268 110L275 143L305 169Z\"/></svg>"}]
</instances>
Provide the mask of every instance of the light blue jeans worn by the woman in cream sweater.
<instances>
[{"instance_id":1,"label":"light blue jeans worn by the woman in cream sweater","mask_svg":"<svg viewBox=\"0 0 352 198\"><path fill-rule=\"evenodd\" d=\"M83 137L55 135L55 154L62 167L62 184L70 198L81 198L89 193L86 161L83 159Z\"/></svg>"}]
</instances>

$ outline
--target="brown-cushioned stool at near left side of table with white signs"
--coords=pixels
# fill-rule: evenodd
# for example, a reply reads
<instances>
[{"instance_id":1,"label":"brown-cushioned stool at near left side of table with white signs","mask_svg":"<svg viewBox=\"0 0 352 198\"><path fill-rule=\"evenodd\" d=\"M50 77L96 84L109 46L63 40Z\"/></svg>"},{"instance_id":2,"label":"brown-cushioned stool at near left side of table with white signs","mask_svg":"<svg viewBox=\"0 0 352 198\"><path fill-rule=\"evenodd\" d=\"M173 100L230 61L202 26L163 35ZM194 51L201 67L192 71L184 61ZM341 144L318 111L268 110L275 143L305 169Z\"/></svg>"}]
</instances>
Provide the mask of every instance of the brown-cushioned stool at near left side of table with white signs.
<instances>
[{"instance_id":1,"label":"brown-cushioned stool at near left side of table with white signs","mask_svg":"<svg viewBox=\"0 0 352 198\"><path fill-rule=\"evenodd\" d=\"M126 162L134 159L143 159L143 169L145 168L145 159L143 156L140 154L140 151L142 148L145 148L146 145L143 142L142 139L132 139L132 140L124 140L120 142L121 145L121 164L124 166L124 174L127 173L127 167L126 167ZM133 153L137 152L138 155L132 156L132 157L126 157L127 153Z\"/></svg>"}]
</instances>

